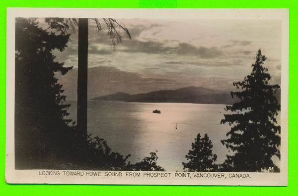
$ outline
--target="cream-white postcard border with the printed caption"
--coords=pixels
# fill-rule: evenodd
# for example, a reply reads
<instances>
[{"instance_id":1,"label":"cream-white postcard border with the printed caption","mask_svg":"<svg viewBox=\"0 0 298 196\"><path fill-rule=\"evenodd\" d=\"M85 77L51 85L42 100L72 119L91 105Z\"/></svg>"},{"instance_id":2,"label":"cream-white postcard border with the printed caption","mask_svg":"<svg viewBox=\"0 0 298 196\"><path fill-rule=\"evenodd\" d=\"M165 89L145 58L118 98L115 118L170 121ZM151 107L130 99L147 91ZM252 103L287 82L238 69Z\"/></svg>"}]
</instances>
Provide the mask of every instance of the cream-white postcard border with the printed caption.
<instances>
[{"instance_id":1,"label":"cream-white postcard border with the printed caption","mask_svg":"<svg viewBox=\"0 0 298 196\"><path fill-rule=\"evenodd\" d=\"M14 169L14 46L15 17L113 17L147 19L276 19L282 20L282 81L281 81L281 172L150 172L170 173L170 177L101 177L67 176L73 170L15 170ZM6 35L6 154L5 180L7 183L34 184L136 184L136 185L242 185L287 186L288 184L288 64L289 64L289 10L288 9L94 9L94 8L7 8ZM59 171L60 175L40 175L40 172ZM78 172L78 171L76 171ZM93 171L96 172L96 171ZM131 171L128 171L131 172ZM179 178L175 173L224 174L225 178ZM249 178L229 178L233 174L248 174Z\"/></svg>"}]
</instances>

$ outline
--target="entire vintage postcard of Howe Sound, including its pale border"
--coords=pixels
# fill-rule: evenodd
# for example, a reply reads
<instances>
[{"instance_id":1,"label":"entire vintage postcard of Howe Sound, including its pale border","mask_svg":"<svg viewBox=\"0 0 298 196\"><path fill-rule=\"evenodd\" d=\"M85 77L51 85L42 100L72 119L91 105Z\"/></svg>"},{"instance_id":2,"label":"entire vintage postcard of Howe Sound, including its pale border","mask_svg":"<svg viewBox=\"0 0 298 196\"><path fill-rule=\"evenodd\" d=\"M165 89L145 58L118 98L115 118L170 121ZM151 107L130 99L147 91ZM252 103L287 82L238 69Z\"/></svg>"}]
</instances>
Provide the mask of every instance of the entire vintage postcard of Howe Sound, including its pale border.
<instances>
[{"instance_id":1,"label":"entire vintage postcard of Howe Sound, including its pale border","mask_svg":"<svg viewBox=\"0 0 298 196\"><path fill-rule=\"evenodd\" d=\"M7 9L7 183L288 184L288 9Z\"/></svg>"}]
</instances>

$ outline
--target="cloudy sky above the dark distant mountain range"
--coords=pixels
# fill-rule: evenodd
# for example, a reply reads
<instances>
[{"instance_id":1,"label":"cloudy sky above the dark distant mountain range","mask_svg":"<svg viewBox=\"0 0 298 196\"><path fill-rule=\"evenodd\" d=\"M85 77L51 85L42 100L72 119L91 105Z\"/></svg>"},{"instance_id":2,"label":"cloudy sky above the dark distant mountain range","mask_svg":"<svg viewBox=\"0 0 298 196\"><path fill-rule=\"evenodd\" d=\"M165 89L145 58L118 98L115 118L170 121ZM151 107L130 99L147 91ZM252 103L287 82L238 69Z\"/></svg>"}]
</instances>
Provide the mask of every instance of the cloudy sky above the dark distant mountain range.
<instances>
[{"instance_id":1,"label":"cloudy sky above the dark distant mountain range","mask_svg":"<svg viewBox=\"0 0 298 196\"><path fill-rule=\"evenodd\" d=\"M281 21L116 19L131 33L116 50L107 30L89 20L88 98L117 92L130 94L201 86L232 90L232 82L251 71L258 49L272 83L280 84ZM77 31L59 61L74 66L57 74L69 100L76 99Z\"/></svg>"}]
</instances>

